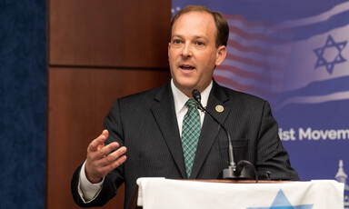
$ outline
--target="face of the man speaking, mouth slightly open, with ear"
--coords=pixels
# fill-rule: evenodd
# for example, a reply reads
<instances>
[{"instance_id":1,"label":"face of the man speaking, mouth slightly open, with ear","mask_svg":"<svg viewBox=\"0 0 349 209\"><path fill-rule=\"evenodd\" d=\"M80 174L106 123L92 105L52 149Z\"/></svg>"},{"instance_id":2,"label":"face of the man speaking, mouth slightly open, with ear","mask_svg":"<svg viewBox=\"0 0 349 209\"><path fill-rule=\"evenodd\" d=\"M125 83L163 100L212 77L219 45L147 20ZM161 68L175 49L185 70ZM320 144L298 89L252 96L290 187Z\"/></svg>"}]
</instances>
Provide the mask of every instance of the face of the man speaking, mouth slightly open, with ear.
<instances>
[{"instance_id":1,"label":"face of the man speaking, mouth slightly open, with ear","mask_svg":"<svg viewBox=\"0 0 349 209\"><path fill-rule=\"evenodd\" d=\"M193 89L203 92L210 84L215 65L226 55L224 45L215 45L214 17L205 12L181 15L172 28L168 60L175 86L192 97Z\"/></svg>"}]
</instances>

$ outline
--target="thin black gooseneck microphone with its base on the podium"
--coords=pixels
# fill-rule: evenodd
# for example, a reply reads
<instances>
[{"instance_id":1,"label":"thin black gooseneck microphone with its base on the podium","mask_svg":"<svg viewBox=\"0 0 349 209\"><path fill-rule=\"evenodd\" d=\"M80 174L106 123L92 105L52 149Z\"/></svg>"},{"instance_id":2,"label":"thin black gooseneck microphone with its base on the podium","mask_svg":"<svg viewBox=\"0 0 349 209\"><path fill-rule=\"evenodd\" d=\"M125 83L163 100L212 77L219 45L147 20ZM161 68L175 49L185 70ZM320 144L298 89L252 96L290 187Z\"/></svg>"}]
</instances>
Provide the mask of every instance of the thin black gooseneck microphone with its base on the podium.
<instances>
[{"instance_id":1,"label":"thin black gooseneck microphone with its base on the podium","mask_svg":"<svg viewBox=\"0 0 349 209\"><path fill-rule=\"evenodd\" d=\"M207 111L206 108L204 108L203 104L201 104L201 94L197 89L194 89L192 92L193 98L197 103L197 108L202 111L204 114L208 114L215 123L219 124L222 129L224 130L224 133L226 134L228 138L228 143L229 143L229 165L228 168L225 168L223 170L223 178L224 179L253 179L251 174L248 173L245 169L245 164L248 164L252 166L254 170L254 175L255 175L255 180L258 182L258 175L257 172L254 168L254 164L251 164L248 161L242 160L240 161L237 165L234 162L234 150L233 150L233 144L232 144L232 139L230 137L230 134L228 131L226 131L224 124L221 124L213 114Z\"/></svg>"}]
</instances>

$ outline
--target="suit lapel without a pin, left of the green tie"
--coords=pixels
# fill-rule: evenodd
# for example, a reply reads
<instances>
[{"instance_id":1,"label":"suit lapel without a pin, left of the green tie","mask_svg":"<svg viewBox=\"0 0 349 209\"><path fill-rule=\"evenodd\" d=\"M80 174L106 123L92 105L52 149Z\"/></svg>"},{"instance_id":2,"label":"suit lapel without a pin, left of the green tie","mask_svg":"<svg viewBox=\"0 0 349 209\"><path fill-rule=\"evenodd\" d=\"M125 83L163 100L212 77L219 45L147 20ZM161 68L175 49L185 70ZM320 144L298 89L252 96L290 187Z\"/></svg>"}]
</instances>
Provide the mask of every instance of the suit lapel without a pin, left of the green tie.
<instances>
[{"instance_id":1,"label":"suit lapel without a pin, left of the green tie","mask_svg":"<svg viewBox=\"0 0 349 209\"><path fill-rule=\"evenodd\" d=\"M175 164L182 177L186 178L182 143L175 115L174 98L169 83L155 96L155 101L151 109L156 123L164 135L165 143L174 157Z\"/></svg>"}]
</instances>

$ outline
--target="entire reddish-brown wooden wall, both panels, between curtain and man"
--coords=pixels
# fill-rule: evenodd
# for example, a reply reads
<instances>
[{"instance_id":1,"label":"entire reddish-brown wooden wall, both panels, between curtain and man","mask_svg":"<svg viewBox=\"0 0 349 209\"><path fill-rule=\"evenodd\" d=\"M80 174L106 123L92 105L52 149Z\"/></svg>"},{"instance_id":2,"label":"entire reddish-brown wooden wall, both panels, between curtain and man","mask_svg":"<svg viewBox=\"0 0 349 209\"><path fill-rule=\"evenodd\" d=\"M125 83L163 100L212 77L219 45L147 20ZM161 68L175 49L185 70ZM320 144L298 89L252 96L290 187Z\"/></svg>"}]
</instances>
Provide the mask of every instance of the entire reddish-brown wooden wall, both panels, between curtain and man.
<instances>
[{"instance_id":1,"label":"entire reddish-brown wooden wall, both panels, between curtain and man","mask_svg":"<svg viewBox=\"0 0 349 209\"><path fill-rule=\"evenodd\" d=\"M115 99L163 85L170 0L48 0L46 208L78 208L75 168ZM103 208L121 209L124 191Z\"/></svg>"}]
</instances>

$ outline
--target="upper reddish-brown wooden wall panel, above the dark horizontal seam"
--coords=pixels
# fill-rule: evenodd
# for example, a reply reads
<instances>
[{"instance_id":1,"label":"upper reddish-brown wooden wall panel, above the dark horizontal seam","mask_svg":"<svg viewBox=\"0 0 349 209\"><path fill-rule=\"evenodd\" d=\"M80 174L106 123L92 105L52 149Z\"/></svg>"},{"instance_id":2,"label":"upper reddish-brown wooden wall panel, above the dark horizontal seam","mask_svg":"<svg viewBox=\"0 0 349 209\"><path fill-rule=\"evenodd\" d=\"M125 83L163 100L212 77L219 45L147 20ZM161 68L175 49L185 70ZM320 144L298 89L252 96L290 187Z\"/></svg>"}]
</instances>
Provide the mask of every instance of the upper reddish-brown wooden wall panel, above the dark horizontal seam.
<instances>
[{"instance_id":1,"label":"upper reddish-brown wooden wall panel, above the dark horizontal seam","mask_svg":"<svg viewBox=\"0 0 349 209\"><path fill-rule=\"evenodd\" d=\"M167 67L170 0L49 0L49 64Z\"/></svg>"}]
</instances>

